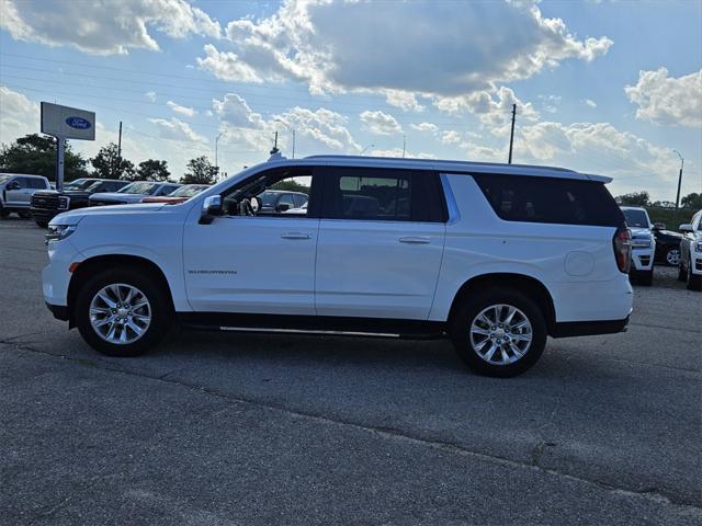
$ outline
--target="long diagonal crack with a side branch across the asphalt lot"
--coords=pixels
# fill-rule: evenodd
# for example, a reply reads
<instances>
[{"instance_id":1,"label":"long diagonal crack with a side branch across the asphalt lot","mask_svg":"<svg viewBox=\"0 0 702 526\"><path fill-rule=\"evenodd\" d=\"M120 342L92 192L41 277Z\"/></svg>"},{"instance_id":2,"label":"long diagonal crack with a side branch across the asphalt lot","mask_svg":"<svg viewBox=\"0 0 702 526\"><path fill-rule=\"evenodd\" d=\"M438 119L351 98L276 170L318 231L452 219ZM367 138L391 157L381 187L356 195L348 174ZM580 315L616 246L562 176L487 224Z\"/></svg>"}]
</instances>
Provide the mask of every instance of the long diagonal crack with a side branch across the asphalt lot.
<instances>
[{"instance_id":1,"label":"long diagonal crack with a side branch across the asphalt lot","mask_svg":"<svg viewBox=\"0 0 702 526\"><path fill-rule=\"evenodd\" d=\"M128 370L128 369L124 369L124 368L120 368L120 367L115 367L110 363L105 363L105 362L95 362L95 361L90 361L90 359L86 359L86 358L75 358L71 356L66 356L66 355L60 355L60 354L54 354L54 353L49 353L39 348L35 348L32 347L30 345L24 345L24 344L13 344L13 346L19 350L19 351L24 351L24 352L31 352L31 353L36 353L36 354L41 354L47 357L53 357L53 358L61 358L61 359L67 359L70 362L73 362L76 364L82 365L82 366L89 366L95 369L101 369L104 371L109 371L109 373L116 373L116 374L122 374L122 375L128 375L128 376L133 376L133 377L138 377L138 378L143 378L146 380L151 380L151 381L158 381L158 382L163 382L163 384L169 384L172 386L178 386L181 388L185 388L185 389L190 389L193 390L197 393L201 395L205 395L205 396L210 396L210 397L215 397L228 402L233 402L233 403L245 403L245 404L249 404L249 405L254 405L258 407L260 409L264 409L268 411L275 411L275 412L280 412L283 413L287 416L291 418L297 418L297 419L306 419L306 420L310 420L314 422L319 422L319 423L324 423L324 424L330 424L330 425L340 425L340 426L347 426L360 432L365 432L365 433L371 433L375 436L382 437L384 439L392 439L392 441L404 441L404 442L409 442L411 444L415 445L419 445L422 447L432 447L434 449L439 449L452 455L461 455L461 456L466 456L466 457L471 457L474 458L476 460L482 460L485 462L491 462L491 464L497 464L500 466L505 466L505 467L509 467L512 469L528 469L528 470L536 470L536 471L541 471L543 473L546 473L548 476L552 477L562 477L568 480L573 480L573 481L577 481L580 483L587 483L587 484L592 484L596 485L600 489L607 490L607 491L612 491L612 492L618 492L621 494L627 494L627 495L638 495L641 498L646 498L646 499L650 499L652 501L655 501L658 504L665 504L665 505L671 505L671 506L677 506L677 507L681 507L684 508L687 511L689 511L690 513L693 513L695 516L700 516L700 518L702 518L702 506L700 506L699 504L697 504L695 502L689 501L686 498L680 498L678 495L673 495L673 494L666 494L666 493L661 493L661 492L656 492L653 491L650 488L647 488L645 491L643 490L636 490L636 489L631 489L631 488L620 488L620 487L615 487L613 484L610 484L608 482L601 481L601 480L597 480L597 479L592 479L592 478L585 478L585 477L579 477L577 474L573 474L573 473L568 473L568 472L564 472L564 471L559 471L557 469L553 469L553 468L546 468L542 465L542 455L543 455L543 450L545 447L553 445L553 443L547 442L543 436L544 436L544 432L545 430L548 427L548 425L552 425L553 423L553 419L555 418L556 413L558 412L558 409L561 407L562 400L564 398L565 392L561 392L559 396L556 398L555 402L554 402L554 407L552 408L548 418L546 419L546 421L544 422L544 424L542 424L539 428L539 433L540 433L540 441L534 445L534 447L532 448L532 454L531 454L531 458L530 460L519 460L519 459L512 459L512 458L508 458L508 457L503 457L500 455L495 455L495 454L490 454L490 453L483 453L483 451L477 451L477 450L473 450L473 449L468 449L463 445L456 444L454 442L450 442L450 441L442 441L440 438L428 438L424 436L418 436L418 435L412 435L407 433L404 430L399 430L399 428L395 428L395 427L386 427L386 426L374 426L374 425L369 425L362 422L356 422L350 419L340 419L340 418L332 418L322 413L317 413L317 412L313 412L313 411L304 411L304 410L299 410L299 409L295 409L295 408L290 408L286 407L284 404L280 404L280 403L274 403L274 402L270 402L270 401L261 401L261 400L257 400L253 398L249 398L249 397L245 397L241 396L239 393L230 393L230 392L225 392L218 389L214 389L211 387L206 387L206 386L201 386L194 382L189 382L189 381L184 381L182 379L174 379L174 378L169 378L169 376L172 373L176 373L178 369L171 370L169 373L166 373L163 375L160 376L151 376L148 374L144 374L144 373L139 373L139 371L135 371L135 370ZM563 378L563 384L564 386L566 385L566 377L564 376ZM565 389L565 387L564 387ZM60 505L60 503L59 503Z\"/></svg>"}]
</instances>

